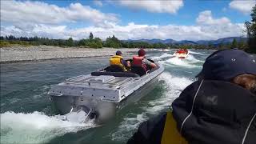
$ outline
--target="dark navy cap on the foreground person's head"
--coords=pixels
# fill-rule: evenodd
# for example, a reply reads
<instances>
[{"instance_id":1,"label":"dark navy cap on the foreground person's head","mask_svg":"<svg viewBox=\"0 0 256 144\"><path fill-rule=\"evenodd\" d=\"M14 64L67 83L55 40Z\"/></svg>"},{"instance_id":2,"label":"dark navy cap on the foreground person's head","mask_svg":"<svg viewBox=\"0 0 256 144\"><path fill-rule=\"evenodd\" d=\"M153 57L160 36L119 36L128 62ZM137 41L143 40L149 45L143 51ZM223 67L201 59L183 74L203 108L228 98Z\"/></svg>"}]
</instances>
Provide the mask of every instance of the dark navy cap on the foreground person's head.
<instances>
[{"instance_id":1,"label":"dark navy cap on the foreground person's head","mask_svg":"<svg viewBox=\"0 0 256 144\"><path fill-rule=\"evenodd\" d=\"M230 81L240 74L256 74L256 58L242 50L218 50L206 58L196 77Z\"/></svg>"}]
</instances>

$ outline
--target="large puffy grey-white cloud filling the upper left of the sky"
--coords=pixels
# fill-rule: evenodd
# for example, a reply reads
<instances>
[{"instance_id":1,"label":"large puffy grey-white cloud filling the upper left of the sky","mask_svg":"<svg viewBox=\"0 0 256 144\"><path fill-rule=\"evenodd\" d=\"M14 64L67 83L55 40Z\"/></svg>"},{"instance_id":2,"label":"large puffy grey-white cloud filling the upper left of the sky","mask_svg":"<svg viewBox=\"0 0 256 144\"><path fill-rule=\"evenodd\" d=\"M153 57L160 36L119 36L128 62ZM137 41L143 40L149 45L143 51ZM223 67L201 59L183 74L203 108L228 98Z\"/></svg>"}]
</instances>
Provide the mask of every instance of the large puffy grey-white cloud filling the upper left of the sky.
<instances>
[{"instance_id":1,"label":"large puffy grey-white cloud filling the upper left of the sky","mask_svg":"<svg viewBox=\"0 0 256 144\"><path fill-rule=\"evenodd\" d=\"M45 2L1 2L1 22L59 24L61 22L117 22L115 14L104 14L90 6L71 3L67 7L49 5Z\"/></svg>"}]
</instances>

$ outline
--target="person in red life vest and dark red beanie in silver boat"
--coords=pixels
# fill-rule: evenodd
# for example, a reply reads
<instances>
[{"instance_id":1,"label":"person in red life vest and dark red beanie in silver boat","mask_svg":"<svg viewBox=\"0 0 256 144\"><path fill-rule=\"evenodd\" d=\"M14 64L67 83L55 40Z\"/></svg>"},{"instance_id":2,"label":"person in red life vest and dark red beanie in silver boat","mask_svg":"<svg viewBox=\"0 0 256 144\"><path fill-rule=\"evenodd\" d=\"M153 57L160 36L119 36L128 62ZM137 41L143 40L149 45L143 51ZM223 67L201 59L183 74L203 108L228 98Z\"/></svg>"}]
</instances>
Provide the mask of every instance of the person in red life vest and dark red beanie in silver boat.
<instances>
[{"instance_id":1,"label":"person in red life vest and dark red beanie in silver boat","mask_svg":"<svg viewBox=\"0 0 256 144\"><path fill-rule=\"evenodd\" d=\"M143 49L138 50L138 56L134 55L131 71L140 76L146 74L147 70L154 69L156 65L154 62L146 59L146 51Z\"/></svg>"}]
</instances>

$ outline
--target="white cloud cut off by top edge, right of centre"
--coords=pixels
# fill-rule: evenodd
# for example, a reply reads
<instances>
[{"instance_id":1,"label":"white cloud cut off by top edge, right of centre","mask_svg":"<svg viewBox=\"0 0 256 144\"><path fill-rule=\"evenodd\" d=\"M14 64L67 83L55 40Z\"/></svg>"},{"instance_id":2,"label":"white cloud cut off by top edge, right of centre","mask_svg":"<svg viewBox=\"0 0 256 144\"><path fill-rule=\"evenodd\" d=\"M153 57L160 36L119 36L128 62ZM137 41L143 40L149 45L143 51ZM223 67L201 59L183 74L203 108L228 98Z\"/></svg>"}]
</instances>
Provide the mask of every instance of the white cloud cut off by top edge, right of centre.
<instances>
[{"instance_id":1,"label":"white cloud cut off by top edge, right of centre","mask_svg":"<svg viewBox=\"0 0 256 144\"><path fill-rule=\"evenodd\" d=\"M114 1L117 2L117 1ZM118 3L122 6L127 6L134 10L144 9L152 13L170 13L176 14L183 6L182 0L175 1L159 1L159 0L119 0Z\"/></svg>"}]
</instances>

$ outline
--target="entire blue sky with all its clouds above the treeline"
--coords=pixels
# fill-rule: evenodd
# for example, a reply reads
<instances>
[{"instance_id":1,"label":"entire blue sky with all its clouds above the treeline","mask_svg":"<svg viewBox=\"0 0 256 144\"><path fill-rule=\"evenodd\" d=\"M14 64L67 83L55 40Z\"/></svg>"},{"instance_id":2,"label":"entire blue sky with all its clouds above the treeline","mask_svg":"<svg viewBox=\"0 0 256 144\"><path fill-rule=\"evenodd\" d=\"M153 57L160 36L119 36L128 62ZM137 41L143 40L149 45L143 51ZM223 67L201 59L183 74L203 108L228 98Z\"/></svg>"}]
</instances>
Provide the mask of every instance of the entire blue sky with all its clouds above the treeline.
<instances>
[{"instance_id":1,"label":"entire blue sky with all its clouds above the treeline","mask_svg":"<svg viewBox=\"0 0 256 144\"><path fill-rule=\"evenodd\" d=\"M245 36L255 0L1 1L1 35L209 40Z\"/></svg>"}]
</instances>

